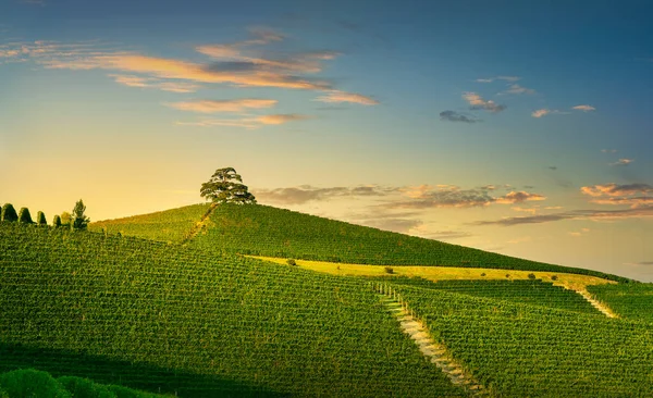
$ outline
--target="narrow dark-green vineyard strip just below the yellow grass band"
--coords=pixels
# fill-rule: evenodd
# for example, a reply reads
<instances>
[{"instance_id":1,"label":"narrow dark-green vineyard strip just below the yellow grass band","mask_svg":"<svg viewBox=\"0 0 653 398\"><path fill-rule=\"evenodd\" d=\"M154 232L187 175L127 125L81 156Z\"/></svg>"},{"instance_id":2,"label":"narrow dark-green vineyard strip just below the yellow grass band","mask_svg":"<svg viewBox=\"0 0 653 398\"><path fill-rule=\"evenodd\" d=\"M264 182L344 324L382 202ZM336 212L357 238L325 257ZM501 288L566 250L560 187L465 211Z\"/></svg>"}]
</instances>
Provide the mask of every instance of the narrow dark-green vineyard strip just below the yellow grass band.
<instances>
[{"instance_id":1,"label":"narrow dark-green vineyard strip just below the yellow grass band","mask_svg":"<svg viewBox=\"0 0 653 398\"><path fill-rule=\"evenodd\" d=\"M440 281L431 282L420 277L383 277L392 285L417 286L426 289L444 290L475 297L484 297L532 306L557 308L594 315L601 315L582 296L576 291L554 286L550 282L533 281ZM601 315L602 316L602 315Z\"/></svg>"}]
</instances>

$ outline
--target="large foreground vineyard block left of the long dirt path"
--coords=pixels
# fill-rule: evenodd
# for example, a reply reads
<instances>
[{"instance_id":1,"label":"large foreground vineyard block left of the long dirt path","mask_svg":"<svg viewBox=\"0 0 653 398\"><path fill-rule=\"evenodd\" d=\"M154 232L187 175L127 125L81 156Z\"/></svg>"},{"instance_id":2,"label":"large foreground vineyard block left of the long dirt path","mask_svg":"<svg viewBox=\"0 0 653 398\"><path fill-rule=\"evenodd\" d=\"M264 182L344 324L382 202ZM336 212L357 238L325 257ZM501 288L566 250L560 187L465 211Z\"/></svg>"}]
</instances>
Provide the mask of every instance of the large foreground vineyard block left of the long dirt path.
<instances>
[{"instance_id":1,"label":"large foreground vineyard block left of the long dirt path","mask_svg":"<svg viewBox=\"0 0 653 398\"><path fill-rule=\"evenodd\" d=\"M0 225L0 371L182 397L449 396L366 282L144 239Z\"/></svg>"}]
</instances>

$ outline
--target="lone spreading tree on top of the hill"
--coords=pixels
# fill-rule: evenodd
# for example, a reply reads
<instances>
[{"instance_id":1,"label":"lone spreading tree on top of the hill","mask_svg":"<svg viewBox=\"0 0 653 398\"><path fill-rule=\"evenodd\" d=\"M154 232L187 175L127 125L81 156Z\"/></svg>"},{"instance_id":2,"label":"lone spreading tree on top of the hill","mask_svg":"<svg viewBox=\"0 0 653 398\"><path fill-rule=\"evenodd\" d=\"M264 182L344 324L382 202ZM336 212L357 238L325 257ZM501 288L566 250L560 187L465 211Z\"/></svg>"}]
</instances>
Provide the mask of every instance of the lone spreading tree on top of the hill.
<instances>
[{"instance_id":1,"label":"lone spreading tree on top of the hill","mask_svg":"<svg viewBox=\"0 0 653 398\"><path fill-rule=\"evenodd\" d=\"M199 195L213 203L256 203L256 198L247 189L234 167L225 167L218 169L211 179L201 185Z\"/></svg>"}]
</instances>

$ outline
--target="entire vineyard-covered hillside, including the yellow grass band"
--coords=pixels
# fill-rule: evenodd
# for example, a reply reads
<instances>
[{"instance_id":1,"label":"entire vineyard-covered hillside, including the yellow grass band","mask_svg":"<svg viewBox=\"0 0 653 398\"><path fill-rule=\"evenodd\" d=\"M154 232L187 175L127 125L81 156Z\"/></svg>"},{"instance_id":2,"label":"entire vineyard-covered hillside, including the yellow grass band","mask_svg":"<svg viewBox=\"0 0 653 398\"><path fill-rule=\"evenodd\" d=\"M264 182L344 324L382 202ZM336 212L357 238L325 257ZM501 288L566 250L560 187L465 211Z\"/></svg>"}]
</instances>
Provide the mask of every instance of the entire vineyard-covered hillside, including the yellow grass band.
<instances>
[{"instance_id":1,"label":"entire vineyard-covered hillside, including the yellow grass band","mask_svg":"<svg viewBox=\"0 0 653 398\"><path fill-rule=\"evenodd\" d=\"M431 397L470 394L461 370L496 397L653 395L650 284L270 207L208 210L89 232L0 223L0 373L181 397Z\"/></svg>"}]
</instances>

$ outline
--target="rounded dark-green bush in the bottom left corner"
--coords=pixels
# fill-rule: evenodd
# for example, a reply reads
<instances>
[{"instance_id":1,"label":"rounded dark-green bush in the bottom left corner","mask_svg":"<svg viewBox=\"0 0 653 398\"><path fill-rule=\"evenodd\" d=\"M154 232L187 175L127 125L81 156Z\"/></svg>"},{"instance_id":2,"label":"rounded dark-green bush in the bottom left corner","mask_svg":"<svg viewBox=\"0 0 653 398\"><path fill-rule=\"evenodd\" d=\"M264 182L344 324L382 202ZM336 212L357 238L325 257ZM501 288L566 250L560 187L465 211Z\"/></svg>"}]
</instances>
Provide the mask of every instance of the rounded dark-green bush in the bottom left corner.
<instances>
[{"instance_id":1,"label":"rounded dark-green bush in the bottom left corner","mask_svg":"<svg viewBox=\"0 0 653 398\"><path fill-rule=\"evenodd\" d=\"M49 373L34 369L0 374L0 388L10 397L72 398Z\"/></svg>"}]
</instances>

